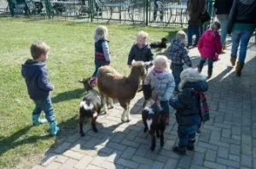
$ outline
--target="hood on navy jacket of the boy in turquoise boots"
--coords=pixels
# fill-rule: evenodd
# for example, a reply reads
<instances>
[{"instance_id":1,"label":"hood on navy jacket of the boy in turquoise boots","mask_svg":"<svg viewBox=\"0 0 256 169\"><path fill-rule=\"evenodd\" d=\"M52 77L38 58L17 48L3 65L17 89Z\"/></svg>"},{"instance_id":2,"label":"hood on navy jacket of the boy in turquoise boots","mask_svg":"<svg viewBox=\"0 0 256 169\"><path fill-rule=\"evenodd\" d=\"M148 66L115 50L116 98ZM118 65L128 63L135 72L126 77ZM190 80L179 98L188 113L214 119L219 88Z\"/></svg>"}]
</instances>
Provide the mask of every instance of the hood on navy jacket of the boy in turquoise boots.
<instances>
[{"instance_id":1,"label":"hood on navy jacket of the boy in turquoise boots","mask_svg":"<svg viewBox=\"0 0 256 169\"><path fill-rule=\"evenodd\" d=\"M40 70L44 66L44 64L39 63L36 60L27 59L26 62L22 65L21 75L25 79L31 79L38 73L38 70Z\"/></svg>"}]
</instances>

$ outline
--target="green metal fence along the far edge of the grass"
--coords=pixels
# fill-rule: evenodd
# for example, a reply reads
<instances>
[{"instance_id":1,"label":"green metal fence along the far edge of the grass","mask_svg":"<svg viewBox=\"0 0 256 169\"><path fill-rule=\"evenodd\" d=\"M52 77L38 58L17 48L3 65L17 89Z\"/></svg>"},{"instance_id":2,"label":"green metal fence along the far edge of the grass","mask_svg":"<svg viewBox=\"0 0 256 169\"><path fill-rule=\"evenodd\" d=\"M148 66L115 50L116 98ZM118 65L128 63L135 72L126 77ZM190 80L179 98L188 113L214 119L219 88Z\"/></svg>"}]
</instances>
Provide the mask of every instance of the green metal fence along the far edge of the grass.
<instances>
[{"instance_id":1,"label":"green metal fence along the far edge of the grass","mask_svg":"<svg viewBox=\"0 0 256 169\"><path fill-rule=\"evenodd\" d=\"M189 20L186 0L0 0L0 2L0 14L56 20L157 26L183 26L187 25ZM213 0L207 2L208 12L213 19Z\"/></svg>"}]
</instances>

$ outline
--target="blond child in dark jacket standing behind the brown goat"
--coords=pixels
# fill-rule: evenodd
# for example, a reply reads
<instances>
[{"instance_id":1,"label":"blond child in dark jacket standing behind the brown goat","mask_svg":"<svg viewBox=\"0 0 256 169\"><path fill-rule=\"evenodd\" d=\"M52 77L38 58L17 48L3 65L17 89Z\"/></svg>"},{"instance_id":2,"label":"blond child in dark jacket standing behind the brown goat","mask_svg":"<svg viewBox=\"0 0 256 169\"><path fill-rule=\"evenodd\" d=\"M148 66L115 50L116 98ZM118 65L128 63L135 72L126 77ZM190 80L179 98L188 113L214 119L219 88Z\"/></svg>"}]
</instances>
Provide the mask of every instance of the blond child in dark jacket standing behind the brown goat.
<instances>
[{"instance_id":1,"label":"blond child in dark jacket standing behind the brown goat","mask_svg":"<svg viewBox=\"0 0 256 169\"><path fill-rule=\"evenodd\" d=\"M131 62L135 61L151 61L153 60L153 54L150 46L147 42L148 33L145 31L139 31L137 33L137 42L132 45L131 51L128 57L127 65L131 68Z\"/></svg>"}]
</instances>

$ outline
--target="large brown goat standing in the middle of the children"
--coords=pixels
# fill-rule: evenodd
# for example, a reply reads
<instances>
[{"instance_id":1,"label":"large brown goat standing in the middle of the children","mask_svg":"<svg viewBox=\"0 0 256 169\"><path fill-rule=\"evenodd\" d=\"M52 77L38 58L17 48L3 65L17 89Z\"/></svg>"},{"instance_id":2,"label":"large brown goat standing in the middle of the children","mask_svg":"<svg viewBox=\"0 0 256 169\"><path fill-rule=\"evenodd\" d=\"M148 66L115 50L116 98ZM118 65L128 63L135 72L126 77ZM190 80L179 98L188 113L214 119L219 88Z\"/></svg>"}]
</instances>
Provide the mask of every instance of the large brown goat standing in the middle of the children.
<instances>
[{"instance_id":1,"label":"large brown goat standing in the middle of the children","mask_svg":"<svg viewBox=\"0 0 256 169\"><path fill-rule=\"evenodd\" d=\"M106 97L118 99L119 104L124 108L121 120L125 121L126 115L127 121L131 121L130 101L135 97L137 89L146 74L147 70L145 68L149 64L149 62L135 62L131 67L130 75L127 77L120 75L119 72L110 66L102 66L98 70L97 85L106 112L108 110Z\"/></svg>"}]
</instances>

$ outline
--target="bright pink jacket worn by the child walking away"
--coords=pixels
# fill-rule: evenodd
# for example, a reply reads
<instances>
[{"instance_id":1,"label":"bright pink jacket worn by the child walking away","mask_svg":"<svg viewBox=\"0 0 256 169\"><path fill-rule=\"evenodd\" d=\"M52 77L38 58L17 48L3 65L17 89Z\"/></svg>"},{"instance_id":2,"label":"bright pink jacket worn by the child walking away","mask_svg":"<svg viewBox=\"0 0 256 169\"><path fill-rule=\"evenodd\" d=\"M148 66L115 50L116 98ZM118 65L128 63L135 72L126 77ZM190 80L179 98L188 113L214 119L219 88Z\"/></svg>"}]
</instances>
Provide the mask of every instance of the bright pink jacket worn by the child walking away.
<instances>
[{"instance_id":1,"label":"bright pink jacket worn by the child walking away","mask_svg":"<svg viewBox=\"0 0 256 169\"><path fill-rule=\"evenodd\" d=\"M221 49L218 31L207 30L202 34L198 42L198 50L202 58L214 59L221 53Z\"/></svg>"}]
</instances>

